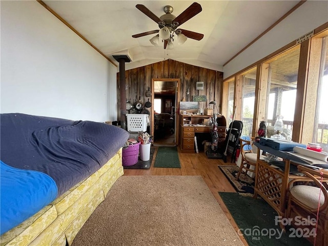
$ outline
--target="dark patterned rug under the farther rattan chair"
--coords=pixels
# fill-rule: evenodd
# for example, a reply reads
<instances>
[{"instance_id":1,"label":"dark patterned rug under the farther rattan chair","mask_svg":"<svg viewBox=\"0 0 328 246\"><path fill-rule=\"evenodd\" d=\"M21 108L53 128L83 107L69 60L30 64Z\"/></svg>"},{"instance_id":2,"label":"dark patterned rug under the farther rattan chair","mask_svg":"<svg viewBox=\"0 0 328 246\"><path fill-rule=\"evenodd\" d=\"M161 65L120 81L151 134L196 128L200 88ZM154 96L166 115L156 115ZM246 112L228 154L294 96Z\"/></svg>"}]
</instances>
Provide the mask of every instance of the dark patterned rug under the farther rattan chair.
<instances>
[{"instance_id":1,"label":"dark patterned rug under the farther rattan chair","mask_svg":"<svg viewBox=\"0 0 328 246\"><path fill-rule=\"evenodd\" d=\"M237 192L254 194L255 180L246 174L240 174L239 180L236 177L239 172L237 166L218 166L224 175L231 182Z\"/></svg>"}]
</instances>

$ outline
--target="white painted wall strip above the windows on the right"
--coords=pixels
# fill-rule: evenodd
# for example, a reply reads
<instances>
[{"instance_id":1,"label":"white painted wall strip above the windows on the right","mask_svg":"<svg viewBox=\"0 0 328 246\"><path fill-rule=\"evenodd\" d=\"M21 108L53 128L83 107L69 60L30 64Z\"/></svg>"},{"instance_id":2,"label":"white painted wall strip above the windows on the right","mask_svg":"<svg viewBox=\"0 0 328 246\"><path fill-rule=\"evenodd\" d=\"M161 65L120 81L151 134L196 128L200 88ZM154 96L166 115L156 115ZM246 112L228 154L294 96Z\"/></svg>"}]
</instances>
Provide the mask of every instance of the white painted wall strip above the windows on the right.
<instances>
[{"instance_id":1,"label":"white painted wall strip above the windows on the right","mask_svg":"<svg viewBox=\"0 0 328 246\"><path fill-rule=\"evenodd\" d=\"M227 78L256 63L326 22L328 22L328 1L306 1L224 66L223 78Z\"/></svg>"}]
</instances>

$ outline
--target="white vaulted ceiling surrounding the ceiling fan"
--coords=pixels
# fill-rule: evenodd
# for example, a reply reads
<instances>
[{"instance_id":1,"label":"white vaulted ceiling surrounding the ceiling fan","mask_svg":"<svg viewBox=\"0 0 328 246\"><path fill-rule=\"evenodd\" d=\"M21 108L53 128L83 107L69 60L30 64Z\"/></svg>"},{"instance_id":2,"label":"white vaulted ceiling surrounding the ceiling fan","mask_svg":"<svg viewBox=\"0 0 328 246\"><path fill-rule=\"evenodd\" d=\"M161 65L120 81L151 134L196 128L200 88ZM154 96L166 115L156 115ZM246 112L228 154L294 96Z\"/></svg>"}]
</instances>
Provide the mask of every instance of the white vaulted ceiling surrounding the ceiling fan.
<instances>
[{"instance_id":1,"label":"white vaulted ceiling surrounding the ceiling fan","mask_svg":"<svg viewBox=\"0 0 328 246\"><path fill-rule=\"evenodd\" d=\"M197 1L202 11L182 24L182 29L204 34L188 39L174 50L154 47L155 34L133 38L133 34L157 30L158 25L139 11L145 5L158 17L171 5L178 16L193 1L44 1L97 49L110 57L128 50L132 63L126 69L145 66L165 58L223 71L223 64L274 24L299 1ZM122 52L124 53L124 52Z\"/></svg>"}]
</instances>

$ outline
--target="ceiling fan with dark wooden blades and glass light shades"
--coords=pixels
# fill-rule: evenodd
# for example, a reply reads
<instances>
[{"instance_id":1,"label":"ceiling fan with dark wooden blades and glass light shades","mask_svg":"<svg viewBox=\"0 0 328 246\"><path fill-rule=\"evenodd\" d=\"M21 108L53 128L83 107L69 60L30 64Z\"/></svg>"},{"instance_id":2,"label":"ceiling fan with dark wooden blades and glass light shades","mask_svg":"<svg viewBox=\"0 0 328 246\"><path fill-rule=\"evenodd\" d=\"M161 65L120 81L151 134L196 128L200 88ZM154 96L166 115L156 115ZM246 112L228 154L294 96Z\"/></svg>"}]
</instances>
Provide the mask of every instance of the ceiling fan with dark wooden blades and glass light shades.
<instances>
[{"instance_id":1,"label":"ceiling fan with dark wooden blades and glass light shades","mask_svg":"<svg viewBox=\"0 0 328 246\"><path fill-rule=\"evenodd\" d=\"M201 6L198 3L193 3L190 5L185 11L179 14L177 17L172 14L173 7L172 6L165 6L164 12L160 17L157 17L154 13L152 13L146 6L142 4L137 4L135 6L138 10L142 13L146 14L149 18L154 20L158 24L159 30L153 30L148 32L142 32L139 34L132 35L132 37L143 37L146 35L158 33L156 36L150 39L150 42L157 46L159 43L159 37L163 39L164 49L173 49L174 34L178 37L178 44L183 44L186 42L187 37L201 40L204 34L188 31L185 29L178 28L183 23L187 22L187 20L194 17L196 14L201 12Z\"/></svg>"}]
</instances>

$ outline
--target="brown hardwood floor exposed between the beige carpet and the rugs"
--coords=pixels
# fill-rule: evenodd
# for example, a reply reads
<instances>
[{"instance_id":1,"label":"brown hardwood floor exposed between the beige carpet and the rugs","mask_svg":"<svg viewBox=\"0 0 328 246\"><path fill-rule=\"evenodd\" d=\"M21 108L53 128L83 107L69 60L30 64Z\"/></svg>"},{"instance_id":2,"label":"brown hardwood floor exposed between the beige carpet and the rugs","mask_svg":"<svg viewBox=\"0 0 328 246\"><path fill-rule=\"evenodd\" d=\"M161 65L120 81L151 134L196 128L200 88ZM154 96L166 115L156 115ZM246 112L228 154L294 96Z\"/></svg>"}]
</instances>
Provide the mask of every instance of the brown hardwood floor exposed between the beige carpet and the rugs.
<instances>
[{"instance_id":1,"label":"brown hardwood floor exposed between the beige carpet and the rugs","mask_svg":"<svg viewBox=\"0 0 328 246\"><path fill-rule=\"evenodd\" d=\"M154 168L154 160L158 147L155 148L156 149L150 169L125 169L124 175L201 175L215 199L220 204L224 214L226 214L232 226L237 231L238 227L234 219L218 194L218 192L236 192L230 181L218 168L218 165L235 165L235 163L230 162L229 156L227 163L224 163L222 159L207 158L204 152L198 154L186 154L181 153L178 148L181 168ZM247 241L242 236L240 236L240 239L245 245L248 245Z\"/></svg>"}]
</instances>

